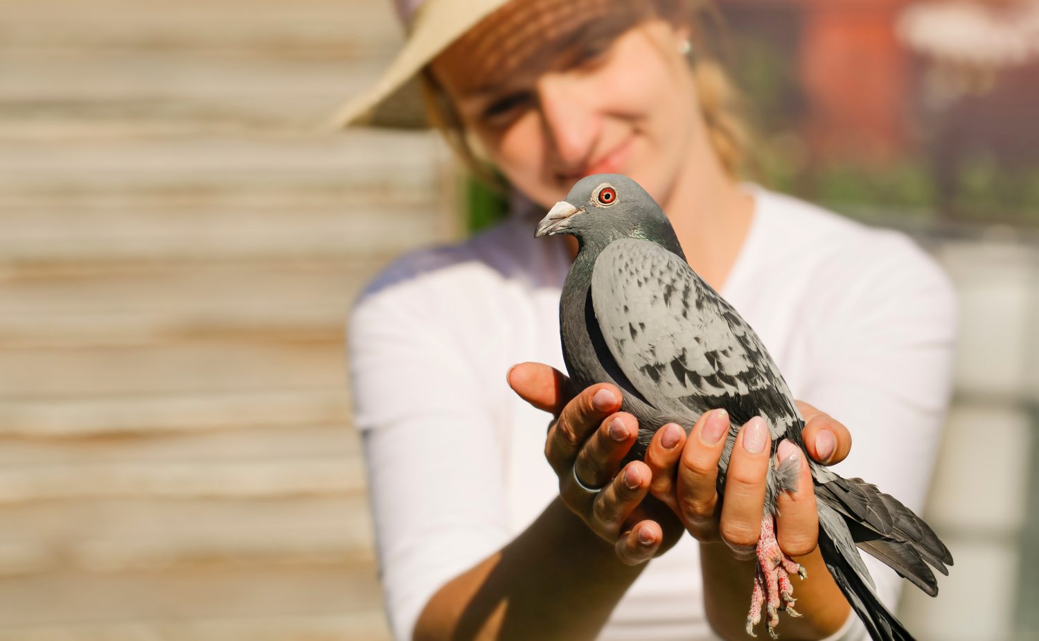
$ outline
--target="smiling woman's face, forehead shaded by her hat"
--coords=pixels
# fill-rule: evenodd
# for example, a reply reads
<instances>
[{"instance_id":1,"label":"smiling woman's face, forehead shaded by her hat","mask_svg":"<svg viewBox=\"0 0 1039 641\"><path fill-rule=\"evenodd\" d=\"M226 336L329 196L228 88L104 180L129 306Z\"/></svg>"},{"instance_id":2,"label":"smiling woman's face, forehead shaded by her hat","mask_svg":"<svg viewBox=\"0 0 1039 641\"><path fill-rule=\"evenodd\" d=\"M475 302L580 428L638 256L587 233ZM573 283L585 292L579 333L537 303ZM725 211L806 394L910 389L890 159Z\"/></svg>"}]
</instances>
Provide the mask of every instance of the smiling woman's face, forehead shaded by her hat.
<instances>
[{"instance_id":1,"label":"smiling woman's face, forehead shaded by her hat","mask_svg":"<svg viewBox=\"0 0 1039 641\"><path fill-rule=\"evenodd\" d=\"M432 63L468 131L540 205L605 172L666 203L684 165L709 148L693 144L705 128L685 33L645 4L513 1Z\"/></svg>"}]
</instances>

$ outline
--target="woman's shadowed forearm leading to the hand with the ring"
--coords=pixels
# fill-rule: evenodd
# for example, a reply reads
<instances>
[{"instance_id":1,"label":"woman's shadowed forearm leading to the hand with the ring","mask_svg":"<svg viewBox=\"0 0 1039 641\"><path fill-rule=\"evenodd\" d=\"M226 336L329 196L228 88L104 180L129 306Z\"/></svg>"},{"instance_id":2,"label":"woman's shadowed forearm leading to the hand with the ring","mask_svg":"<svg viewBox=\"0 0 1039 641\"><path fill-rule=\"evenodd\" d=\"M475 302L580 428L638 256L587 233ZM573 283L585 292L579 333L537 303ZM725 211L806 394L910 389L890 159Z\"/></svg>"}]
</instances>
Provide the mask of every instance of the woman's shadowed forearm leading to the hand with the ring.
<instances>
[{"instance_id":1,"label":"woman's shadowed forearm leading to the hand with the ring","mask_svg":"<svg viewBox=\"0 0 1039 641\"><path fill-rule=\"evenodd\" d=\"M593 639L644 567L621 563L557 498L512 542L433 594L414 639Z\"/></svg>"}]
</instances>

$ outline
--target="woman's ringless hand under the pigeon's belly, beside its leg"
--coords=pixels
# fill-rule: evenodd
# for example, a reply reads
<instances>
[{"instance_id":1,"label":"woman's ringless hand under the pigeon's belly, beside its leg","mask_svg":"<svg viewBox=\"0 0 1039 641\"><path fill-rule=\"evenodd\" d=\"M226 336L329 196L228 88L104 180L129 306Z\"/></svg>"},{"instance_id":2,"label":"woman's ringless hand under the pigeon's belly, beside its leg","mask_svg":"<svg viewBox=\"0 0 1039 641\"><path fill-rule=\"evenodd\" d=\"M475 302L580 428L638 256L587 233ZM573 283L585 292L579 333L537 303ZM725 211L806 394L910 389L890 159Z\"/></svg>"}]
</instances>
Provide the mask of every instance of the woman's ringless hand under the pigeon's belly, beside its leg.
<instances>
[{"instance_id":1,"label":"woman's ringless hand under the pigeon's belly, beside its leg","mask_svg":"<svg viewBox=\"0 0 1039 641\"><path fill-rule=\"evenodd\" d=\"M797 404L805 420L802 438L808 454L825 464L844 460L851 450L848 429L808 403ZM701 542L720 540L737 558L749 559L761 535L765 477L768 466L774 464L771 443L761 419L752 419L740 429L729 458L725 495L719 497L718 461L728 429L724 409L704 412L688 437L676 426L664 426L654 435L645 461L654 479L650 492L677 514L693 537ZM673 473L673 457L663 443L670 430L678 433L682 450ZM800 478L795 492L780 492L777 498L776 531L782 551L796 557L816 549L819 519L807 460L792 443L781 442L775 462L792 456L800 460Z\"/></svg>"}]
</instances>

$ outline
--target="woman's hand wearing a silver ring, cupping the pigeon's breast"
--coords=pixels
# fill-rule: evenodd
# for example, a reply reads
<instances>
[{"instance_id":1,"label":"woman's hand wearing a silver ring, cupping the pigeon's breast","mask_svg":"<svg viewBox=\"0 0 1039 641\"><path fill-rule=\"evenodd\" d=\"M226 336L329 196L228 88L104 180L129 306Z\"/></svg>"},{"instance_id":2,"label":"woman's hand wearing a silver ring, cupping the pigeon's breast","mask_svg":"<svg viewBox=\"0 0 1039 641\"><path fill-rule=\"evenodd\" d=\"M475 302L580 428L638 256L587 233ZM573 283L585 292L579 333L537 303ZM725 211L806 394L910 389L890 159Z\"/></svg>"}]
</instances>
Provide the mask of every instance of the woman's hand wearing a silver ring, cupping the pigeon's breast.
<instances>
[{"instance_id":1,"label":"woman's hand wearing a silver ring, cupping the pigeon's breast","mask_svg":"<svg viewBox=\"0 0 1039 641\"><path fill-rule=\"evenodd\" d=\"M619 390L602 383L574 395L565 375L537 363L513 367L508 382L521 398L555 417L544 456L559 477L559 495L595 534L614 543L621 561L643 563L678 540L684 528L675 512L648 496L650 485L660 483L654 471L639 460L620 470L638 435L638 422L618 411ZM658 453L660 473L671 474L680 454L676 444ZM602 490L589 492L575 477Z\"/></svg>"}]
</instances>

